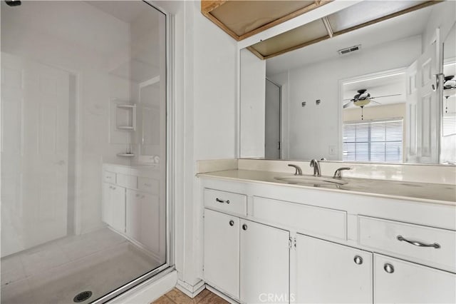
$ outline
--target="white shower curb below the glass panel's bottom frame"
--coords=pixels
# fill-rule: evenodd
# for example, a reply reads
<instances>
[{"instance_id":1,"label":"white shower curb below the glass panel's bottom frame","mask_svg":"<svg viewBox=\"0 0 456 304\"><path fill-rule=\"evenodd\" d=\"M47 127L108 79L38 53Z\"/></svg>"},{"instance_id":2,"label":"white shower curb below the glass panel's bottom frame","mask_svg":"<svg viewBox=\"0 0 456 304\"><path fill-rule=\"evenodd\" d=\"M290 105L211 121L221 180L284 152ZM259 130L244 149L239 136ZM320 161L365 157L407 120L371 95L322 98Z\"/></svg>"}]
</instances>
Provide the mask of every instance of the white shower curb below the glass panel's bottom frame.
<instances>
[{"instance_id":1,"label":"white shower curb below the glass panel's bottom frame","mask_svg":"<svg viewBox=\"0 0 456 304\"><path fill-rule=\"evenodd\" d=\"M150 278L140 285L110 300L108 304L149 304L175 288L177 271L162 275L160 278Z\"/></svg>"}]
</instances>

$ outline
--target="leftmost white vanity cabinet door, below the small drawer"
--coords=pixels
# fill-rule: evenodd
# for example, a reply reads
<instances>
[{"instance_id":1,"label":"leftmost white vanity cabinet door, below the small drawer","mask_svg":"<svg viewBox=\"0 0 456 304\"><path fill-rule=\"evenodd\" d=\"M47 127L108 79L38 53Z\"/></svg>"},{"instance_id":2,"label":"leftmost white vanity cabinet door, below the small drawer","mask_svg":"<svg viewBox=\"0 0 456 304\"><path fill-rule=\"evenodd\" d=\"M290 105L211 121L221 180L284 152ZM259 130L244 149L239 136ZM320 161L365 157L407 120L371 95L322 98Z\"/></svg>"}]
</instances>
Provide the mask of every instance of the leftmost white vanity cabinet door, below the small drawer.
<instances>
[{"instance_id":1,"label":"leftmost white vanity cabinet door, below the small drawer","mask_svg":"<svg viewBox=\"0 0 456 304\"><path fill-rule=\"evenodd\" d=\"M239 298L239 218L204 209L204 280Z\"/></svg>"}]
</instances>

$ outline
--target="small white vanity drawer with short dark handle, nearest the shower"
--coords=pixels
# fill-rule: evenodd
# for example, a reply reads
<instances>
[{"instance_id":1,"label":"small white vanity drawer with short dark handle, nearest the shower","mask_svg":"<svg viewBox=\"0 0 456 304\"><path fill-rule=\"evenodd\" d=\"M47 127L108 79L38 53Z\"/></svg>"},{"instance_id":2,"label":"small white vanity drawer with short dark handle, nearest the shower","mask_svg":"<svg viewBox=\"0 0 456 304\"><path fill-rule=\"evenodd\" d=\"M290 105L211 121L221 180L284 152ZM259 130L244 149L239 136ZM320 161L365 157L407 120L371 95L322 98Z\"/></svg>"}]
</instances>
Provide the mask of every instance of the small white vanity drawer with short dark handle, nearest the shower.
<instances>
[{"instance_id":1,"label":"small white vanity drawer with short dark handle, nearest the shower","mask_svg":"<svg viewBox=\"0 0 456 304\"><path fill-rule=\"evenodd\" d=\"M214 210L247 216L247 196L244 196L244 194L204 189L204 206Z\"/></svg>"}]
</instances>

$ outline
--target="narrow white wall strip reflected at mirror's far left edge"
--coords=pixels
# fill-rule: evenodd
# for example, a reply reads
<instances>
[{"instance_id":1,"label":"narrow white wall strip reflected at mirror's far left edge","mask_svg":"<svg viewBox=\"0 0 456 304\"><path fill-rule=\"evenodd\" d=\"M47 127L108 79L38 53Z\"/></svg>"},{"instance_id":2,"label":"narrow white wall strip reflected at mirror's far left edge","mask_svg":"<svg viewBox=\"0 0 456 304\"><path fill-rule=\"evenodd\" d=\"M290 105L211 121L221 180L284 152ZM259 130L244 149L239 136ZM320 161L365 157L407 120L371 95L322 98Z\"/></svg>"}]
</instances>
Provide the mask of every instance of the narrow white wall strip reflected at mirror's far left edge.
<instances>
[{"instance_id":1,"label":"narrow white wall strip reflected at mirror's far left edge","mask_svg":"<svg viewBox=\"0 0 456 304\"><path fill-rule=\"evenodd\" d=\"M247 49L240 57L240 157L264 157L266 61Z\"/></svg>"}]
</instances>

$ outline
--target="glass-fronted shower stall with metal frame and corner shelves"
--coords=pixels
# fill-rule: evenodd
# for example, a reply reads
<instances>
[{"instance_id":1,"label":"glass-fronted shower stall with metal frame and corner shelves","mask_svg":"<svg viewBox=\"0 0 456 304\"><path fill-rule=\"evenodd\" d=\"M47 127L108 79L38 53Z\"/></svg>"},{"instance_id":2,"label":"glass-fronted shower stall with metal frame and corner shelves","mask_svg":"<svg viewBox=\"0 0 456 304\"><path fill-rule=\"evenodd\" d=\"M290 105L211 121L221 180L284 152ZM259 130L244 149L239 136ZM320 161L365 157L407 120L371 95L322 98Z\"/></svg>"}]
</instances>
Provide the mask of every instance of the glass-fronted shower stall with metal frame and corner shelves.
<instances>
[{"instance_id":1,"label":"glass-fronted shower stall with metal frame and corner shelves","mask_svg":"<svg viewBox=\"0 0 456 304\"><path fill-rule=\"evenodd\" d=\"M167 15L1 1L1 303L103 303L169 268Z\"/></svg>"}]
</instances>

